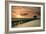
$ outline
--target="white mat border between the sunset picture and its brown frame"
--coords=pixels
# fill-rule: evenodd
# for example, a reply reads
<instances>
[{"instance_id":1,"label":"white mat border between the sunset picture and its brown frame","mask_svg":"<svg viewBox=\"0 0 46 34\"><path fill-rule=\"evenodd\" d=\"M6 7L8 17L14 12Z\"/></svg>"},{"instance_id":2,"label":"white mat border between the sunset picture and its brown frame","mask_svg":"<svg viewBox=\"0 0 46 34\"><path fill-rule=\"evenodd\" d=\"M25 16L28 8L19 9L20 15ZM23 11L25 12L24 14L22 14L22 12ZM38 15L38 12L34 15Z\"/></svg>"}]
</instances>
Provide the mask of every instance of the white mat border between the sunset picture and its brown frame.
<instances>
[{"instance_id":1,"label":"white mat border between the sunset picture and its brown frame","mask_svg":"<svg viewBox=\"0 0 46 34\"><path fill-rule=\"evenodd\" d=\"M30 6L30 7L41 7L41 27L24 27L24 28L11 28L11 6ZM38 30L43 29L43 5L34 4L9 4L9 31L22 31L22 30Z\"/></svg>"}]
</instances>

